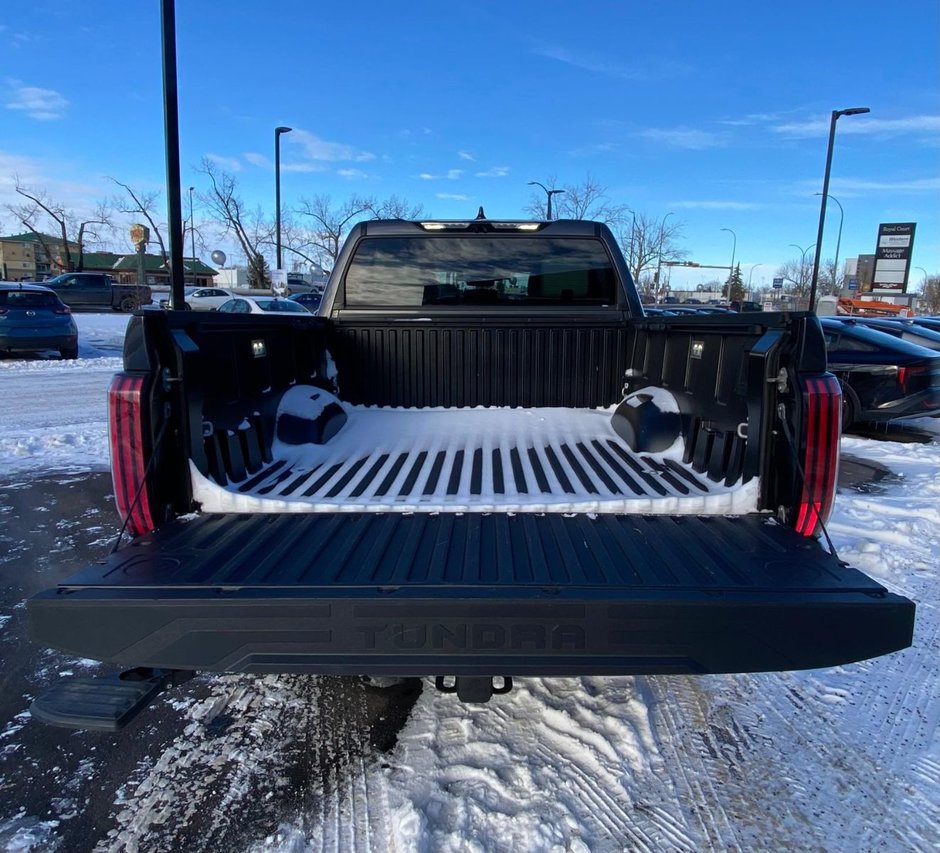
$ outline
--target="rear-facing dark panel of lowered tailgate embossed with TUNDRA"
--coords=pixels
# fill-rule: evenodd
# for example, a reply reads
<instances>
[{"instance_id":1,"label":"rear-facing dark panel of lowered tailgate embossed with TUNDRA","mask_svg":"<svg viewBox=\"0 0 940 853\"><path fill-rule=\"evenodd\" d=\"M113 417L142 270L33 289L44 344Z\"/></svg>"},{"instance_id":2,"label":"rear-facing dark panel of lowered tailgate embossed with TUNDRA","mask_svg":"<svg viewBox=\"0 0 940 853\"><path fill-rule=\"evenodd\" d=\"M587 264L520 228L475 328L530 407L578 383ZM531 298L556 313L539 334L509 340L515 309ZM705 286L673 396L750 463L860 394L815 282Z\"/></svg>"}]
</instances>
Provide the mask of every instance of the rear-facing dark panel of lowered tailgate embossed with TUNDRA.
<instances>
[{"instance_id":1,"label":"rear-facing dark panel of lowered tailgate embossed with TUNDRA","mask_svg":"<svg viewBox=\"0 0 940 853\"><path fill-rule=\"evenodd\" d=\"M420 676L806 669L910 645L913 605L872 593L480 589L46 592L33 638L122 666Z\"/></svg>"}]
</instances>

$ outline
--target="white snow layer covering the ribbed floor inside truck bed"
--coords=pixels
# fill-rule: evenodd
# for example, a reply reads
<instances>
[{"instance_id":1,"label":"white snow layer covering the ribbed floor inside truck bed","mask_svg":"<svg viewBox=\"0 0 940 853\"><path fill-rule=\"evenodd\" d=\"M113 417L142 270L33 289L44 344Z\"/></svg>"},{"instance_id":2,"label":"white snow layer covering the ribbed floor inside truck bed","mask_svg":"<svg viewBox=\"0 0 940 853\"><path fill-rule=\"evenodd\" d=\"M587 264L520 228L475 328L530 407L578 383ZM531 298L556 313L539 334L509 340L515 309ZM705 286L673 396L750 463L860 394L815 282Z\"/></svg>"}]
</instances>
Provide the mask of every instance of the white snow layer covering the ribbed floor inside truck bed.
<instances>
[{"instance_id":1,"label":"white snow layer covering the ribbed floor inside truck bed","mask_svg":"<svg viewBox=\"0 0 940 853\"><path fill-rule=\"evenodd\" d=\"M757 505L756 479L729 486L693 471L681 438L632 451L609 409L376 408L298 387L278 418L312 420L331 403L348 416L332 438L276 439L273 462L240 482L220 485L191 463L202 510L739 515Z\"/></svg>"}]
</instances>

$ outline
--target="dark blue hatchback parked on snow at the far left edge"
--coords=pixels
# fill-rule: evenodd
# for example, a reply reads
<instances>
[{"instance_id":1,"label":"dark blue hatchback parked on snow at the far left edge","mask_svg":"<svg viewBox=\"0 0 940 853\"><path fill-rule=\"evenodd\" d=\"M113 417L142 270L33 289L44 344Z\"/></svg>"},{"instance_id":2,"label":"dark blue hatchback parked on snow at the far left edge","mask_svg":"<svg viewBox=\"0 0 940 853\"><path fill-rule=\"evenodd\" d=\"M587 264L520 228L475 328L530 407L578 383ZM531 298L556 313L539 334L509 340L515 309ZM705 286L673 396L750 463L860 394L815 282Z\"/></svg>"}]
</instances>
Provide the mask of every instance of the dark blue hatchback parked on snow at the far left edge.
<instances>
[{"instance_id":1,"label":"dark blue hatchback parked on snow at the far left edge","mask_svg":"<svg viewBox=\"0 0 940 853\"><path fill-rule=\"evenodd\" d=\"M0 354L57 349L78 358L78 327L54 290L39 284L0 284Z\"/></svg>"}]
</instances>

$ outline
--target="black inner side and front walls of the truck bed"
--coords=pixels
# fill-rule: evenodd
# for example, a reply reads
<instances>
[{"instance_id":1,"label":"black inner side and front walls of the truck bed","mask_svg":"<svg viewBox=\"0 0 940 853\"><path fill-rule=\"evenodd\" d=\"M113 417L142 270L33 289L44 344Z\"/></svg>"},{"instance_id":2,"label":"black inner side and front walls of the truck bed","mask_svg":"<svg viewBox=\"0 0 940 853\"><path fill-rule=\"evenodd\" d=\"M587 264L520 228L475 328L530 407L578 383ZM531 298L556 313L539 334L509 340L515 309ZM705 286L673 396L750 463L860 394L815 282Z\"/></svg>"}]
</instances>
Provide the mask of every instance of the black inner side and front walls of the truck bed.
<instances>
[{"instance_id":1,"label":"black inner side and front walls of the truck bed","mask_svg":"<svg viewBox=\"0 0 940 853\"><path fill-rule=\"evenodd\" d=\"M785 327L776 316L770 325ZM331 387L334 374L344 401L402 407L598 407L618 404L625 391L664 387L683 416L687 462L716 481L759 475L761 413L772 411L767 377L776 359L753 351L768 324L671 319L146 318L159 360L184 376L176 390L189 413L187 455L222 484L270 461L287 388ZM785 339L776 334L774 354ZM749 418L759 428L742 432Z\"/></svg>"}]
</instances>

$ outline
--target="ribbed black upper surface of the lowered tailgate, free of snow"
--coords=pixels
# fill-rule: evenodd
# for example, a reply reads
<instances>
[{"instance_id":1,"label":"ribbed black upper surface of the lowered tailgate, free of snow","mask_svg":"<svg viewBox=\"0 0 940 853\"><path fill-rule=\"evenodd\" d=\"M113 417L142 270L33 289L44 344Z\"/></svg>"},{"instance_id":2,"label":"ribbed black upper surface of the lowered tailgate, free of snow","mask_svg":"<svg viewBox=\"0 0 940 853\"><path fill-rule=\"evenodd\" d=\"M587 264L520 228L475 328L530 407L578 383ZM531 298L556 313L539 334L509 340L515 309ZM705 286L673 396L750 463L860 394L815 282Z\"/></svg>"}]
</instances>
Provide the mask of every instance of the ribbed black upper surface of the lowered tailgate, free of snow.
<instances>
[{"instance_id":1,"label":"ribbed black upper surface of the lowered tailgate, free of snow","mask_svg":"<svg viewBox=\"0 0 940 853\"><path fill-rule=\"evenodd\" d=\"M494 586L883 591L766 516L557 513L205 514L134 540L59 589Z\"/></svg>"}]
</instances>

